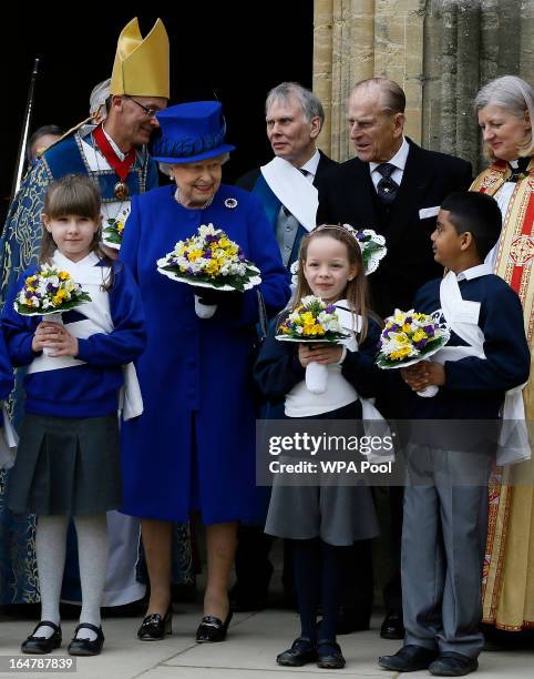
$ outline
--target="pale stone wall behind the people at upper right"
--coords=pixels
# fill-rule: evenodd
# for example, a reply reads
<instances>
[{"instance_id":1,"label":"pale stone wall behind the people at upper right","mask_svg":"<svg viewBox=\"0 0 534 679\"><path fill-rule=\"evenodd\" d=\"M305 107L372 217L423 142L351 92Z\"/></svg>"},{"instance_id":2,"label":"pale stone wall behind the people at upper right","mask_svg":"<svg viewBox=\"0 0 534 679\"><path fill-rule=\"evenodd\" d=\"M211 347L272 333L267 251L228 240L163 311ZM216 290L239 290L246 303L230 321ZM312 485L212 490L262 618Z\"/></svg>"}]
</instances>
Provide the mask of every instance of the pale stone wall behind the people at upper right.
<instances>
[{"instance_id":1,"label":"pale stone wall behind the people at upper right","mask_svg":"<svg viewBox=\"0 0 534 679\"><path fill-rule=\"evenodd\" d=\"M327 111L320 136L351 155L351 87L384 75L407 93L407 134L480 163L472 110L481 84L516 73L534 83L534 0L315 0L314 89Z\"/></svg>"}]
</instances>

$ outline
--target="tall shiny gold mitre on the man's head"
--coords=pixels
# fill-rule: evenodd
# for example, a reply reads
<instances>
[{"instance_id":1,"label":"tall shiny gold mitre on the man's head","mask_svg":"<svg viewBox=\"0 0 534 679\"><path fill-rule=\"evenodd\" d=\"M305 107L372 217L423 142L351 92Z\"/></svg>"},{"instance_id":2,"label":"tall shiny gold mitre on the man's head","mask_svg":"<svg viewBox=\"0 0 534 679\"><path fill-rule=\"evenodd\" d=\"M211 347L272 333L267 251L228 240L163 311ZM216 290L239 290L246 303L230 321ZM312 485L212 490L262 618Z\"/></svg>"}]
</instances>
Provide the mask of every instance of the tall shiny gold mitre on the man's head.
<instances>
[{"instance_id":1,"label":"tall shiny gold mitre on the man's head","mask_svg":"<svg viewBox=\"0 0 534 679\"><path fill-rule=\"evenodd\" d=\"M162 20L143 39L134 17L119 36L111 93L168 99L168 36Z\"/></svg>"}]
</instances>

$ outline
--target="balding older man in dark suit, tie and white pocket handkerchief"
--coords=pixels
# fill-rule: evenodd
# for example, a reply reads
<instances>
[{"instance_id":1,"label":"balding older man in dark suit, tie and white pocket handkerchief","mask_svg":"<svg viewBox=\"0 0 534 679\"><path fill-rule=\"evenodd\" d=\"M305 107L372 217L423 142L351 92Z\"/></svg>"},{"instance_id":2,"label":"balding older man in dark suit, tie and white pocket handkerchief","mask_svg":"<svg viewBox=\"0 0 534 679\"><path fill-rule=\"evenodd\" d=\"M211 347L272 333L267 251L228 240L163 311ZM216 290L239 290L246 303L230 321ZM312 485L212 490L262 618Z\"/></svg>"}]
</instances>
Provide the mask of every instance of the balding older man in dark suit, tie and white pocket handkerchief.
<instances>
[{"instance_id":1,"label":"balding older man in dark suit, tie and white pocket handkerchief","mask_svg":"<svg viewBox=\"0 0 534 679\"><path fill-rule=\"evenodd\" d=\"M468 189L470 163L418 146L403 134L405 95L386 78L356 84L349 97L350 139L356 158L329 170L318 182L317 223L349 223L386 236L388 254L370 275L372 308L382 317L411 307L415 291L441 275L430 234L441 201ZM397 404L379 404L387 417L402 417ZM391 488L391 545L396 572L384 589L384 638L402 638L400 537L402 489ZM360 545L360 544L359 544ZM352 568L352 604L370 617L372 559L370 544L360 545ZM364 620L360 620L362 627Z\"/></svg>"}]
</instances>

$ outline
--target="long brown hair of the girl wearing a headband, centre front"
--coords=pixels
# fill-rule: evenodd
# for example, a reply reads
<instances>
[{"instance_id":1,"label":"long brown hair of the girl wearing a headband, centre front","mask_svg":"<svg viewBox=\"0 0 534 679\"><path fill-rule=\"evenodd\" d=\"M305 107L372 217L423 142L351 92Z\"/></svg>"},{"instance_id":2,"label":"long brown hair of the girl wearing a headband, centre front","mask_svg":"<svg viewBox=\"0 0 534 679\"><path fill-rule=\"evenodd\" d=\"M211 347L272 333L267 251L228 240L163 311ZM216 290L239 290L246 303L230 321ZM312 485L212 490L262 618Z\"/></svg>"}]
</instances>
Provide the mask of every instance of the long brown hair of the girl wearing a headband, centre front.
<instances>
[{"instance_id":1,"label":"long brown hair of the girl wearing a headband, centre front","mask_svg":"<svg viewBox=\"0 0 534 679\"><path fill-rule=\"evenodd\" d=\"M377 316L371 312L370 308L369 285L363 271L363 260L361 256L360 245L355 239L352 232L350 232L348 229L345 229L340 224L321 224L320 226L316 226L314 231L310 231L302 239L302 242L300 244L300 252L298 255L298 283L291 311L296 306L298 306L302 297L305 297L306 295L314 294L311 292L310 286L308 285L306 276L304 275L305 264L308 257L308 247L311 241L325 236L343 243L343 245L347 247L347 256L349 260L349 264L351 266L356 265L358 268L358 273L356 274L356 276L347 283L347 287L345 290L345 297L348 301L352 312L355 314L359 314L362 317L361 331L359 333L359 342L361 343L367 336L368 316L372 316L373 318L377 318Z\"/></svg>"}]
</instances>

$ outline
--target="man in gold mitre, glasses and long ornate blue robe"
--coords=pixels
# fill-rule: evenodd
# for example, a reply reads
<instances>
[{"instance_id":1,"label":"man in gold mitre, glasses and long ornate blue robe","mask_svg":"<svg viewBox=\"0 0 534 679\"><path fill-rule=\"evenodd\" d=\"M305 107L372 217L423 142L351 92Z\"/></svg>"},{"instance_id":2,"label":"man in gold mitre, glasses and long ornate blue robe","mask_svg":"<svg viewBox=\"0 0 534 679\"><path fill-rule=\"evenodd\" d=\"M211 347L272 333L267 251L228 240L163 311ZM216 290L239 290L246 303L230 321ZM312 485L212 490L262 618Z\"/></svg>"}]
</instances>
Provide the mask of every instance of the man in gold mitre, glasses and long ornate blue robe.
<instances>
[{"instance_id":1,"label":"man in gold mitre, glasses and long ornate blue robe","mask_svg":"<svg viewBox=\"0 0 534 679\"><path fill-rule=\"evenodd\" d=\"M48 185L65 174L89 174L97 182L102 194L102 224L124 225L130 213L131 196L157 185L157 169L146 151L152 132L158 126L155 112L167 105L168 38L158 19L143 39L137 19L121 32L111 79L109 113L101 124L81 125L48 149L29 172L10 206L0 241L0 301L3 303L11 285L28 266L35 264L41 244L41 212ZM121 229L122 231L122 229ZM111 242L117 254L120 244ZM19 371L20 373L20 371ZM13 401L14 420L21 417L21 384L18 375ZM6 517L3 520L8 520ZM9 520L14 521L14 518ZM31 517L25 521L31 535ZM107 514L110 557L102 606L120 606L141 599L144 586L136 581L135 565L140 540L138 520L117 511ZM3 531L8 533L8 531ZM22 533L22 531L20 531ZM31 554L31 546L20 553ZM6 546L6 550L8 548ZM28 557L31 560L31 557ZM69 559L71 560L71 559ZM78 559L72 559L78 563ZM22 565L22 567L28 564ZM19 565L12 568L20 571ZM6 568L8 568L6 566ZM69 571L69 567L68 567ZM24 570L25 572L25 570ZM64 580L63 595L80 600L80 594L69 591L71 574ZM76 577L72 578L76 581ZM25 581L14 594L13 602L27 601L34 585ZM23 592L22 592L23 588ZM37 598L37 591L35 599ZM23 599L22 599L23 595Z\"/></svg>"}]
</instances>

